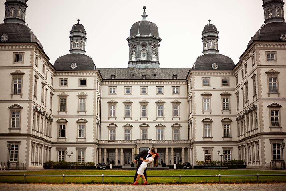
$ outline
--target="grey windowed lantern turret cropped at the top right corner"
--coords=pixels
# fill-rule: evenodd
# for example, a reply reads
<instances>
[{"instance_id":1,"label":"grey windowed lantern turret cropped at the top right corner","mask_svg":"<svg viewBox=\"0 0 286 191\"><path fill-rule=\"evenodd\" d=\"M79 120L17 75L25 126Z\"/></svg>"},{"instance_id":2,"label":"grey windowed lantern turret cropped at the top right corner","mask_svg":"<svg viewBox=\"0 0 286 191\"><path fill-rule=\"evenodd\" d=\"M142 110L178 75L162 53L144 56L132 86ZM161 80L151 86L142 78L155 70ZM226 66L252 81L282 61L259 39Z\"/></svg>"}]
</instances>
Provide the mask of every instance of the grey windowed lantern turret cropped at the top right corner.
<instances>
[{"instance_id":1,"label":"grey windowed lantern turret cropped at the top right corner","mask_svg":"<svg viewBox=\"0 0 286 191\"><path fill-rule=\"evenodd\" d=\"M264 23L284 22L283 0L262 0L264 10Z\"/></svg>"}]
</instances>

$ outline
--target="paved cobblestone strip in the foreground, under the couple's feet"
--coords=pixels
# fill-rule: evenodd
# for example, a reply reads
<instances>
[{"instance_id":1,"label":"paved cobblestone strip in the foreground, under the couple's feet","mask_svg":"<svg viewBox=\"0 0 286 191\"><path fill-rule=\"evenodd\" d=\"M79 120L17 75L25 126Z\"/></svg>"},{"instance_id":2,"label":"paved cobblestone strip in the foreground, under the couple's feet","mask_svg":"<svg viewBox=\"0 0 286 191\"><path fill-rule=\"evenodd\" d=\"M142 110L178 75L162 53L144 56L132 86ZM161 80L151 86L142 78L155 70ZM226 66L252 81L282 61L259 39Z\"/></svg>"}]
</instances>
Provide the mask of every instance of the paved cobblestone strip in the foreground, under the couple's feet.
<instances>
[{"instance_id":1,"label":"paved cobblestone strip in the foreground, under the couple's feet","mask_svg":"<svg viewBox=\"0 0 286 191\"><path fill-rule=\"evenodd\" d=\"M0 184L0 190L7 191L132 191L132 190L160 190L160 191L246 191L246 190L259 190L259 191L285 191L286 184L184 184L184 185L121 185L121 184Z\"/></svg>"}]
</instances>

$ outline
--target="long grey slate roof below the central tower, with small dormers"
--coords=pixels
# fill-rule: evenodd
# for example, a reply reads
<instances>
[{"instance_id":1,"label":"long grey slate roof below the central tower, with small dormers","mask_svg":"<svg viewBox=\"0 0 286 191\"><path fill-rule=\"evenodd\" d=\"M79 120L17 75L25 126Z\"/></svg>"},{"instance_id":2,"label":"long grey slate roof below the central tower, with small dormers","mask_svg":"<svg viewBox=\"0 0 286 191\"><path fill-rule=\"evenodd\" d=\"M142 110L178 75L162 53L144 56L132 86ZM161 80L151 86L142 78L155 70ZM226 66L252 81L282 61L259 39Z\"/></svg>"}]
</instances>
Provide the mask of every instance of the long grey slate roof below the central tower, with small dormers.
<instances>
[{"instance_id":1,"label":"long grey slate roof below the central tower, with small dormers","mask_svg":"<svg viewBox=\"0 0 286 191\"><path fill-rule=\"evenodd\" d=\"M146 75L148 79L173 79L173 75L177 74L177 79L186 79L191 68L97 68L105 80L111 79L111 75L115 76L115 80L139 80L142 75ZM134 74L134 77L132 77ZM156 76L154 76L156 74Z\"/></svg>"}]
</instances>

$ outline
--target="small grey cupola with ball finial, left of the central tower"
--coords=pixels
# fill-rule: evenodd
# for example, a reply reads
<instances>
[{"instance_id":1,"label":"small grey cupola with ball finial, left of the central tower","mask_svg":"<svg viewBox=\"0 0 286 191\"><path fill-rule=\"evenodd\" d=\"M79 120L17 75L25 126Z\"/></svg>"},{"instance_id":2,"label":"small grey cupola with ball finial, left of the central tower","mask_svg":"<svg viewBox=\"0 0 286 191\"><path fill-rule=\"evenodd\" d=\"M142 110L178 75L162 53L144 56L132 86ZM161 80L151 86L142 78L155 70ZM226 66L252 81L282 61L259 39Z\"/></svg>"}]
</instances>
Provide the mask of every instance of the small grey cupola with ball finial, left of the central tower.
<instances>
[{"instance_id":1,"label":"small grey cupola with ball finial, left of the central tower","mask_svg":"<svg viewBox=\"0 0 286 191\"><path fill-rule=\"evenodd\" d=\"M70 39L70 53L82 53L85 54L86 50L86 31L84 30L84 26L80 24L80 19L78 19L78 23L72 26L72 30L69 31L71 36Z\"/></svg>"}]
</instances>

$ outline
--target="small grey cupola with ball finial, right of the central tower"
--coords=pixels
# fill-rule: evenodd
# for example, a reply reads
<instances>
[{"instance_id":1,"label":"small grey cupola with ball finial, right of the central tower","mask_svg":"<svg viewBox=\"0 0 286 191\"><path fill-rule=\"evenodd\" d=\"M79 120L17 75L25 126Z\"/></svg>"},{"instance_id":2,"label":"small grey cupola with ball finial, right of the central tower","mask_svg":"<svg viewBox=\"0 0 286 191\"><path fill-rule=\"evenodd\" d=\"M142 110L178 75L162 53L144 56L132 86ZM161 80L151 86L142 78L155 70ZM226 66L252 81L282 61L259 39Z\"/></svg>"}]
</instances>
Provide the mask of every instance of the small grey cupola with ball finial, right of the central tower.
<instances>
[{"instance_id":1,"label":"small grey cupola with ball finial, right of the central tower","mask_svg":"<svg viewBox=\"0 0 286 191\"><path fill-rule=\"evenodd\" d=\"M218 49L218 40L219 40L219 31L215 25L208 24L204 26L204 31L202 31L202 46L203 53L219 53Z\"/></svg>"}]
</instances>

